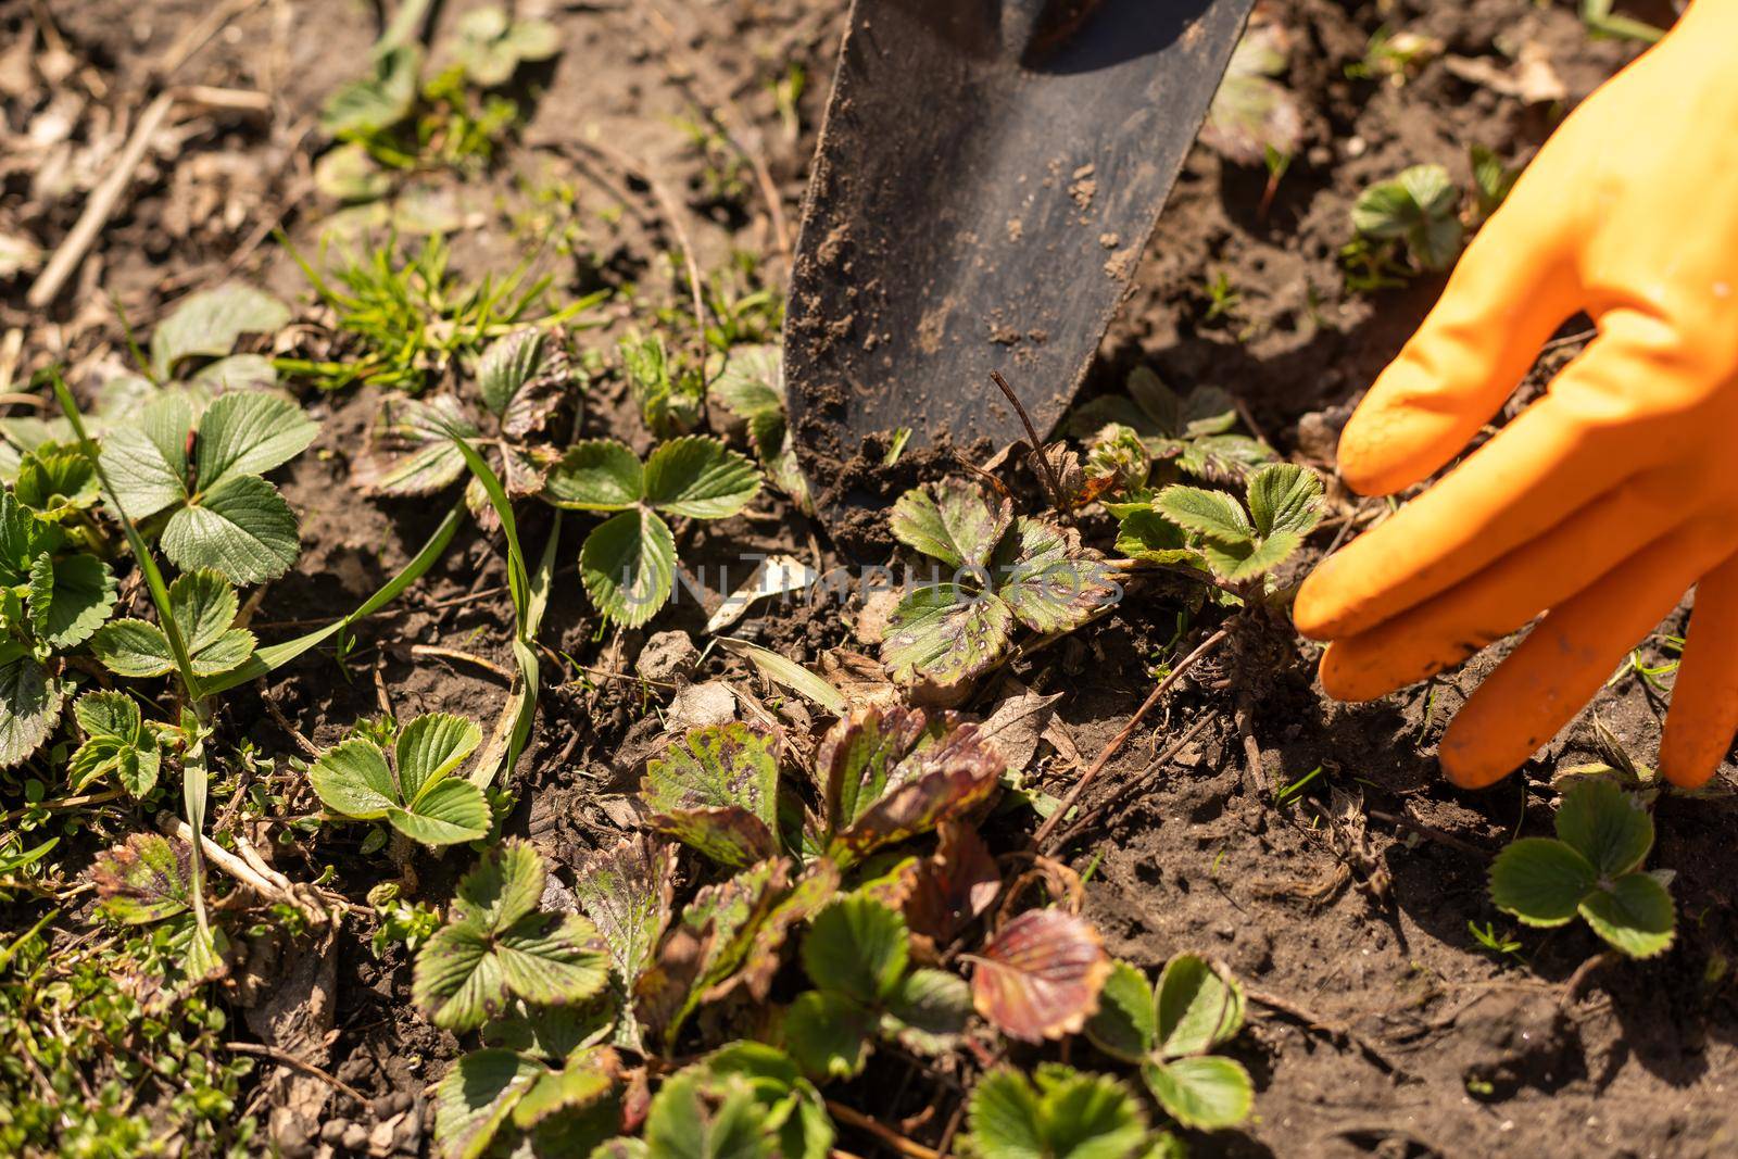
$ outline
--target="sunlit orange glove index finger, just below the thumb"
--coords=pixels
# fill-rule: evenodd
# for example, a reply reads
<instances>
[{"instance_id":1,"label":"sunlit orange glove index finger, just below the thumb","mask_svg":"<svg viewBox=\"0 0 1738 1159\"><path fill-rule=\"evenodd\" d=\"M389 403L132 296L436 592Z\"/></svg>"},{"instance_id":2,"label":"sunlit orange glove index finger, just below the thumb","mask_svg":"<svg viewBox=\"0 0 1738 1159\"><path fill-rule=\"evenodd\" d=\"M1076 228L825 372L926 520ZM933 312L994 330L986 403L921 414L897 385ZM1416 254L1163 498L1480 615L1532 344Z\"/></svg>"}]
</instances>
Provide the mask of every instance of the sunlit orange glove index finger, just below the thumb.
<instances>
[{"instance_id":1,"label":"sunlit orange glove index finger, just below the thumb","mask_svg":"<svg viewBox=\"0 0 1738 1159\"><path fill-rule=\"evenodd\" d=\"M1564 367L1550 394L1436 487L1323 561L1298 589L1291 610L1298 631L1316 639L1370 631L1653 467L1668 443L1639 440L1632 424L1615 421L1641 417L1615 414L1629 405L1622 386L1632 384L1637 354L1623 335L1595 339Z\"/></svg>"}]
</instances>

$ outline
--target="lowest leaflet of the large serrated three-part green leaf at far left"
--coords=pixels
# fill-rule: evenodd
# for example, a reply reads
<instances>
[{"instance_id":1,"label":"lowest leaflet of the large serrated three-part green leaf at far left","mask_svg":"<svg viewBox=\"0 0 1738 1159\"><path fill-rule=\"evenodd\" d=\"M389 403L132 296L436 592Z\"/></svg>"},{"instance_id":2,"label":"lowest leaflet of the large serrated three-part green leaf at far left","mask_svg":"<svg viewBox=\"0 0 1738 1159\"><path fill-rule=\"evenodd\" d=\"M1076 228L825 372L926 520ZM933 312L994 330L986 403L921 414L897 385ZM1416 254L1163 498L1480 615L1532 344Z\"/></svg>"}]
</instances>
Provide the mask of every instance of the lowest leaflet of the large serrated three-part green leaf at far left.
<instances>
[{"instance_id":1,"label":"lowest leaflet of the large serrated three-part green leaf at far left","mask_svg":"<svg viewBox=\"0 0 1738 1159\"><path fill-rule=\"evenodd\" d=\"M231 474L200 493L170 516L160 542L176 566L210 568L236 584L278 579L302 553L295 513L257 474Z\"/></svg>"}]
</instances>

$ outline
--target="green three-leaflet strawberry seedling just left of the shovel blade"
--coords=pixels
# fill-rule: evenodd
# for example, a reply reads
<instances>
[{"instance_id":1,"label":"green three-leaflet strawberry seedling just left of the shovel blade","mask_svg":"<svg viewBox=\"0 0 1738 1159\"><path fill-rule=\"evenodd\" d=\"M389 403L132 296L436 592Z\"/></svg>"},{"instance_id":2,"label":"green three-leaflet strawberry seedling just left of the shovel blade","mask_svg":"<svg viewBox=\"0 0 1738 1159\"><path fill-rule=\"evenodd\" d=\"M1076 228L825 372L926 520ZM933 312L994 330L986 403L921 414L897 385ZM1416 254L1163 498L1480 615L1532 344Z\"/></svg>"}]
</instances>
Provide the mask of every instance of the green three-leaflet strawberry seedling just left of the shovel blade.
<instances>
[{"instance_id":1,"label":"green three-leaflet strawberry seedling just left of the shovel blade","mask_svg":"<svg viewBox=\"0 0 1738 1159\"><path fill-rule=\"evenodd\" d=\"M664 514L723 520L760 493L760 471L714 438L662 443L641 464L624 443L587 440L549 471L544 499L575 511L614 511L579 551L586 594L622 627L638 627L674 589L676 537Z\"/></svg>"}]
</instances>

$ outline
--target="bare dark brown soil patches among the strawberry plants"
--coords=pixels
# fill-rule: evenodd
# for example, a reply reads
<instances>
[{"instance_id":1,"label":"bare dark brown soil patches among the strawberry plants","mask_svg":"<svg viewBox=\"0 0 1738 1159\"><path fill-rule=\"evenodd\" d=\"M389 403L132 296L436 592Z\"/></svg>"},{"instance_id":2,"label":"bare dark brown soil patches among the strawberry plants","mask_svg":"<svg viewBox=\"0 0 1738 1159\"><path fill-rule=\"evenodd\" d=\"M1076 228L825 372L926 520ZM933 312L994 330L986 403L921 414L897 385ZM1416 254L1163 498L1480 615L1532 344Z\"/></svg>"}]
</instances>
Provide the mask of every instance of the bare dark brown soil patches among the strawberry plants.
<instances>
[{"instance_id":1,"label":"bare dark brown soil patches among the strawberry plants","mask_svg":"<svg viewBox=\"0 0 1738 1159\"><path fill-rule=\"evenodd\" d=\"M441 21L466 7L445 5ZM801 0L667 5L676 30L667 35L634 3L556 5L565 54L547 75L525 141L492 176L455 182L454 195L476 215L476 224L454 238L462 268L501 271L535 248L537 238L511 228L511 215L532 202L527 182L516 177L561 179L577 191L584 245L572 257L539 259L558 276L558 292L633 281L653 301L687 309L666 257L680 242L647 182L619 165L580 163L554 148L600 139L674 193L702 269L723 269L732 250L746 250L761 261L768 280L782 278L770 217L753 184L740 196L714 196L706 158L673 118L692 115L695 94L709 103L728 97L754 134L782 214L794 226L841 26L836 7ZM28 21L24 9L0 5L0 52ZM97 113L130 118L143 108L155 83L153 63L212 5L50 0L45 9L106 94L92 96L89 80L68 83L70 94L82 94L70 137L78 146L108 125ZM1670 19L1648 7L1632 12ZM1357 191L1420 162L1441 162L1465 177L1474 142L1522 162L1562 108L1622 66L1634 45L1589 38L1573 7L1561 2L1288 0L1276 3L1274 14L1298 45L1286 82L1307 113L1304 153L1264 210L1265 172L1194 149L1086 391L1116 389L1137 363L1152 365L1178 387L1218 384L1237 394L1276 447L1331 469L1333 436L1350 403L1439 288L1420 278L1370 295L1345 292L1338 248L1349 240L1347 210ZM1449 56L1495 66L1505 66L1505 54L1519 45L1538 45L1566 99L1528 106L1462 80L1441 59L1404 85L1347 78L1345 66L1382 26L1436 36ZM368 5L264 3L236 16L193 56L177 82L266 92L271 115L189 122L179 148L153 155L141 169L82 276L47 313L26 308L28 276L0 281L0 334L23 330L23 367L61 358L89 379L99 360L123 351L109 297L136 327L148 327L189 288L229 275L306 304L301 275L264 231L282 219L299 247L315 245L334 207L309 191L318 142L311 116L325 92L360 71L374 35ZM780 127L766 89L791 63L808 76L796 136ZM40 113L42 103L12 97L7 108L24 116ZM23 129L7 125L12 134ZM216 174L222 162L236 162L224 170L231 174L226 196L240 207L233 224L221 203L191 215L184 200L195 193L191 176ZM0 233L26 233L52 250L90 182L70 177L70 188L42 195L31 182L43 163L0 158ZM619 212L603 217L600 210ZM1220 273L1239 302L1231 316L1210 318L1204 287ZM612 309L610 325L582 334L582 344L612 348L626 315ZM1580 330L1571 325L1566 334ZM1573 344L1547 356L1528 389L1536 391L1543 374L1571 353ZM309 403L323 419L323 434L283 483L302 513L304 556L290 577L269 587L255 613L254 627L266 639L355 606L422 544L448 502L362 497L349 476L374 398L344 393ZM619 384L600 387L587 405L587 433L645 443ZM959 454L977 464L989 450ZM714 582L716 565L742 551L793 551L819 566L885 561L892 540L878 506L952 464L952 452L935 452L904 459L892 476L857 464L827 480L829 499L855 507L836 542L789 504L766 500L753 518L680 528L683 560L690 568L707 565L699 575L714 598L723 587ZM1036 493L1024 467L1003 474ZM1347 497L1335 499L1350 513ZM579 527L572 516L565 521L561 570L542 634L549 688L534 744L509 784L518 796L509 831L534 838L567 867L633 822L620 794L636 782L660 728L655 716L647 723L647 714L669 695L631 678L638 650L657 629L680 627L699 641L706 617L687 601L647 631L600 634L574 566ZM1102 540L1112 528L1100 520L1085 530ZM532 513L521 525L532 553L547 533L546 513ZM1330 539L1331 532L1319 535L1314 551L1326 549ZM742 577L746 570L735 575ZM499 537L462 528L436 572L363 626L342 662L325 650L282 672L269 688L236 693L226 728L269 754L295 756L294 740L262 712L259 697L269 697L315 744L382 709L454 709L492 719L506 699L497 674L462 659L417 657L410 648L471 653L511 669L504 586ZM1013 669L1027 685L1065 693L1060 742L1046 742L1034 766L1043 784L1065 791L1078 775L1069 749L1086 765L1123 728L1152 686L1149 669L1166 655L1180 606L1170 587L1137 591L1112 617ZM853 639L855 612L853 603L756 613L739 634L819 666L827 650L862 648ZM1211 615L1201 612L1194 622ZM1660 659L1651 643L1644 655ZM1469 933L1469 921L1512 930L1486 900L1486 862L1512 834L1549 831L1554 763L1597 758L1595 716L1648 761L1663 712L1660 695L1634 676L1616 681L1522 775L1465 794L1437 777L1432 745L1493 655L1427 688L1363 707L1326 702L1312 686L1310 659L1310 650L1293 650L1281 626L1182 681L1105 770L1104 791L1140 775L1166 738L1201 714L1211 723L1151 791L1111 810L1065 851L1076 869L1097 867L1086 914L1112 952L1158 966L1177 950L1203 950L1225 959L1251 987L1253 1025L1234 1053L1257 1077L1255 1117L1244 1129L1192 1140L1194 1154L1738 1154L1738 992L1726 970L1738 952L1738 810L1729 792L1660 801L1653 864L1677 871L1681 907L1677 942L1663 957L1604 964L1568 994L1566 980L1599 950L1585 928L1521 935L1524 961L1493 957ZM695 679L726 672L758 686L740 662L718 650L707 653ZM985 707L991 693L968 707ZM1248 737L1239 733L1239 705L1248 711ZM1276 785L1316 766L1324 775L1302 798L1272 805ZM1733 777L1728 765L1721 773L1728 791ZM1361 799L1364 844L1338 838L1321 818L1330 785ZM308 805L306 787L301 794ZM339 871L337 888L353 897L391 876L381 858L360 855L358 839L360 829L355 839L322 838L322 857ZM443 900L466 860L422 858L419 897ZM318 865L302 869L318 872ZM410 1010L403 954L377 963L355 924L332 952L337 1015L327 1065L375 1105L334 1096L323 1119L374 1124L408 1107L431 1123L424 1088L455 1056L457 1043ZM1090 1051L1076 1051L1074 1062L1090 1062ZM893 1083L900 1076L893 1070ZM932 1102L923 1084L893 1086L883 1083L888 1077L871 1072L845 1096L890 1121ZM890 1098L890 1089L900 1093ZM398 1105L395 1096L410 1103ZM925 1129L933 1142L937 1126ZM285 1154L323 1147L318 1123L285 1131ZM403 1129L391 1143L403 1152L426 1145L426 1129ZM876 1147L867 1136L843 1145L859 1154Z\"/></svg>"}]
</instances>

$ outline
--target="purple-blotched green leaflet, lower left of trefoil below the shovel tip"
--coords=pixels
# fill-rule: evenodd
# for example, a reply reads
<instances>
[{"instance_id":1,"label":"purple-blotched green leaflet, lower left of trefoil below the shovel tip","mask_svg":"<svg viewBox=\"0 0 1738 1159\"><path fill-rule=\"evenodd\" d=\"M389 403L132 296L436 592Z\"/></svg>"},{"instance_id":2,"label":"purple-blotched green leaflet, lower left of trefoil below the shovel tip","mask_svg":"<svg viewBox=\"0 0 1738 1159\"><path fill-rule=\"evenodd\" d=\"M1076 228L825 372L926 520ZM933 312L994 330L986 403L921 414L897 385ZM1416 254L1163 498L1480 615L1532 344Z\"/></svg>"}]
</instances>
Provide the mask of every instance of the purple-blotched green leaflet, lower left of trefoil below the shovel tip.
<instances>
[{"instance_id":1,"label":"purple-blotched green leaflet, lower left of trefoil below the shovel tip","mask_svg":"<svg viewBox=\"0 0 1738 1159\"><path fill-rule=\"evenodd\" d=\"M888 617L881 662L900 685L937 690L939 700L987 671L1008 648L1013 608L959 584L914 589Z\"/></svg>"}]
</instances>

